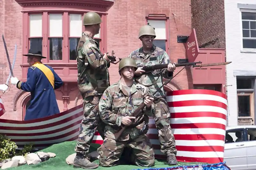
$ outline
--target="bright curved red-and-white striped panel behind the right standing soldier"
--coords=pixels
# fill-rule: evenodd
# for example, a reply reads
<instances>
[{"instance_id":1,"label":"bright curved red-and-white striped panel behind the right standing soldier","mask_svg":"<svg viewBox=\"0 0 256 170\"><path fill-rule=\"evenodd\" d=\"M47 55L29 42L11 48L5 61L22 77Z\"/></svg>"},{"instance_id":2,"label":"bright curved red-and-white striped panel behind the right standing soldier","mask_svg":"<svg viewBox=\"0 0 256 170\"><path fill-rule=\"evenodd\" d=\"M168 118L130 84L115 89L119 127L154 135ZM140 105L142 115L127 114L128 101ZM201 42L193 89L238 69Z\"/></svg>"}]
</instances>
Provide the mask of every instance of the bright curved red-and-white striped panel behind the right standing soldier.
<instances>
[{"instance_id":1,"label":"bright curved red-and-white striped panel behind the right standing soldier","mask_svg":"<svg viewBox=\"0 0 256 170\"><path fill-rule=\"evenodd\" d=\"M213 90L189 89L167 93L171 128L176 140L178 161L223 162L227 116L227 96ZM154 127L154 119L149 126ZM156 158L160 151L156 129L149 129Z\"/></svg>"}]
</instances>

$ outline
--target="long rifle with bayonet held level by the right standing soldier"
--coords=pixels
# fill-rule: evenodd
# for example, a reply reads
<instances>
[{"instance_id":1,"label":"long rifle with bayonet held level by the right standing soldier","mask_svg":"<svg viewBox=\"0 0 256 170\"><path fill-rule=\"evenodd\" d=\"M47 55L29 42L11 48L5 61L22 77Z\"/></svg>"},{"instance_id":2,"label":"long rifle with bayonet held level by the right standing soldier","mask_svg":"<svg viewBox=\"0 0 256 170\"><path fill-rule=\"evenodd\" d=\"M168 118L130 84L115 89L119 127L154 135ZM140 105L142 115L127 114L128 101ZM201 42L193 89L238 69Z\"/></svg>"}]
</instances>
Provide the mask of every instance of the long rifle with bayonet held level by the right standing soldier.
<instances>
[{"instance_id":1,"label":"long rifle with bayonet held level by the right standing soldier","mask_svg":"<svg viewBox=\"0 0 256 170\"><path fill-rule=\"evenodd\" d=\"M190 62L190 63L177 63L175 64L176 67L182 67L182 66L192 66L192 67L209 67L209 66L219 66L219 65L226 65L231 63L231 61L229 62L223 62L223 63L210 63L210 64L202 64L201 61L198 62ZM153 70L157 70L157 69L164 69L167 68L168 64L156 64L153 66L144 66L141 69L145 70L146 72L151 72Z\"/></svg>"}]
</instances>

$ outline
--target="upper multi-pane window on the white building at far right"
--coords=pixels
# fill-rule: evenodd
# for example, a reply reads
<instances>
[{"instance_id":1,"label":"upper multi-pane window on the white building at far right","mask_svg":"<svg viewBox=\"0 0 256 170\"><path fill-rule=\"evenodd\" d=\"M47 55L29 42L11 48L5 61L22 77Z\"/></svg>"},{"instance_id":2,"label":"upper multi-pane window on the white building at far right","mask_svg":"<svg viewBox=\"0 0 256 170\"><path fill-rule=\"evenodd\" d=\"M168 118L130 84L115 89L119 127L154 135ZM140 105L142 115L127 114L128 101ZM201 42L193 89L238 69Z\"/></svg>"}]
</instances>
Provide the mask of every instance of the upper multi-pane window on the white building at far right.
<instances>
[{"instance_id":1,"label":"upper multi-pane window on the white building at far right","mask_svg":"<svg viewBox=\"0 0 256 170\"><path fill-rule=\"evenodd\" d=\"M256 49L256 13L242 12L243 48Z\"/></svg>"}]
</instances>

